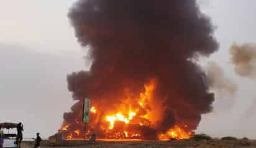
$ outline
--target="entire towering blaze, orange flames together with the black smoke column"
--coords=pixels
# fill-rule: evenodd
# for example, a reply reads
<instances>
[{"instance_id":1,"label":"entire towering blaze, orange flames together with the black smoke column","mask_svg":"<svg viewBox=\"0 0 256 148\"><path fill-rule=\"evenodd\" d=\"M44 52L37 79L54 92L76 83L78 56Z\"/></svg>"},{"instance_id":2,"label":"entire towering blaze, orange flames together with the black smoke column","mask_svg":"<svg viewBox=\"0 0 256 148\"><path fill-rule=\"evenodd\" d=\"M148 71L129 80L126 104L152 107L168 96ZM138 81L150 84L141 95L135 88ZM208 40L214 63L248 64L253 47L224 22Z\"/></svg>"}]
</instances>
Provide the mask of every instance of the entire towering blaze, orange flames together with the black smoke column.
<instances>
[{"instance_id":1,"label":"entire towering blaze, orange flames together with the black smoke column","mask_svg":"<svg viewBox=\"0 0 256 148\"><path fill-rule=\"evenodd\" d=\"M63 115L66 139L188 138L213 109L196 61L218 45L196 0L79 0L68 17L91 67L67 76L77 102ZM93 106L86 133L84 98Z\"/></svg>"}]
</instances>

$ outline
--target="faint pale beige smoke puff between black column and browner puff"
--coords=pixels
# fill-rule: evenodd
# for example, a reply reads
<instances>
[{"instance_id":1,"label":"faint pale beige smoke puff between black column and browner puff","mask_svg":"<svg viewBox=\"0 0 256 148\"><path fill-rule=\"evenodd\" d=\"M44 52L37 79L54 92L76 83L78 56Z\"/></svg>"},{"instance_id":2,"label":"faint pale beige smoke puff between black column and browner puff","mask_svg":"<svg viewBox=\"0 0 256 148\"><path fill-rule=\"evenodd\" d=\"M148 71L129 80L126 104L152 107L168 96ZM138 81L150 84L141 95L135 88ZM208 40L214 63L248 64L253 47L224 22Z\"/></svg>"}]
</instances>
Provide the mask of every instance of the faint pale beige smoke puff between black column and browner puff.
<instances>
[{"instance_id":1,"label":"faint pale beige smoke puff between black column and browner puff","mask_svg":"<svg viewBox=\"0 0 256 148\"><path fill-rule=\"evenodd\" d=\"M226 77L224 70L213 61L210 61L206 68L206 75L208 77L209 86L219 94L235 95L238 90L238 85L232 80Z\"/></svg>"}]
</instances>

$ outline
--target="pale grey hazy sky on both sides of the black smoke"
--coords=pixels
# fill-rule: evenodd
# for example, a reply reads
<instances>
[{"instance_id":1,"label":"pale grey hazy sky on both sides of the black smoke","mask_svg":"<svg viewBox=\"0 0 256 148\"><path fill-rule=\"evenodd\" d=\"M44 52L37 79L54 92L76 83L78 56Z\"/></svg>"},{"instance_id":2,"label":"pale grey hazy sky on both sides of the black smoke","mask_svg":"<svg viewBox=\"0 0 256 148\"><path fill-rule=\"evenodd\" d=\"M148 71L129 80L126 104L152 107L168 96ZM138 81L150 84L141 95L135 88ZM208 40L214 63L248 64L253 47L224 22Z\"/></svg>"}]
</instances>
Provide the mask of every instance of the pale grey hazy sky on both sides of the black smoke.
<instances>
[{"instance_id":1,"label":"pale grey hazy sky on both sides of the black smoke","mask_svg":"<svg viewBox=\"0 0 256 148\"><path fill-rule=\"evenodd\" d=\"M62 124L74 103L66 74L88 69L66 14L70 0L1 0L0 122L24 123L24 137L48 137ZM229 46L256 41L256 1L201 0L201 9L216 25L218 53L211 56L239 84L232 97L218 94L213 113L204 115L198 133L256 139L255 82L235 76ZM204 64L204 61L202 62Z\"/></svg>"}]
</instances>

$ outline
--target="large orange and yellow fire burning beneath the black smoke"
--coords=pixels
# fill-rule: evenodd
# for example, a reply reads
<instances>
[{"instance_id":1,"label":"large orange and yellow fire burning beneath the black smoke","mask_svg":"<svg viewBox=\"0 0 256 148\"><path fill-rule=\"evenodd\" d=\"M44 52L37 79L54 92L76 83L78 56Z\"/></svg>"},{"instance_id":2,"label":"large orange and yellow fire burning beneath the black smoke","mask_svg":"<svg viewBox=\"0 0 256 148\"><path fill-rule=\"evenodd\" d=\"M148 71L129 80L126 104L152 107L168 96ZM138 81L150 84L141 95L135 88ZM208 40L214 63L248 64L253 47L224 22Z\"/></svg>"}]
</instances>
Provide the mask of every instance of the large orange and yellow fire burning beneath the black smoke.
<instances>
[{"instance_id":1,"label":"large orange and yellow fire burning beneath the black smoke","mask_svg":"<svg viewBox=\"0 0 256 148\"><path fill-rule=\"evenodd\" d=\"M126 94L128 97L124 98L124 102L117 108L113 108L111 112L106 113L105 107L92 102L91 121L88 125L75 121L72 124L63 124L60 132L65 134L65 139L83 139L92 133L96 133L101 138L144 139L146 135L141 131L154 126L152 118L160 118L155 113L145 111L154 105L152 103L156 81L152 80L144 87L144 92L141 92L138 98L131 99L129 93ZM158 139L188 139L191 134L193 133L188 130L188 125L176 124L166 133L158 133Z\"/></svg>"}]
</instances>

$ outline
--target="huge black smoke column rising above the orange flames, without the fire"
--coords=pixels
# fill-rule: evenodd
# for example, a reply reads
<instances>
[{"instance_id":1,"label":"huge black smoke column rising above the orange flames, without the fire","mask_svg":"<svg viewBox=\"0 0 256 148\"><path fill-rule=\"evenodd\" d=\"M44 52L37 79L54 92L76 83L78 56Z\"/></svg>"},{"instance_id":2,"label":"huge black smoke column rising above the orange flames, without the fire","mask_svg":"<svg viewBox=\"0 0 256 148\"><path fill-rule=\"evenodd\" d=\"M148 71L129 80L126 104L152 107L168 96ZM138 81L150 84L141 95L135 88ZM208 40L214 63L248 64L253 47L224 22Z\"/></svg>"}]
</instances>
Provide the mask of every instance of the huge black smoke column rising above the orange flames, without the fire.
<instances>
[{"instance_id":1,"label":"huge black smoke column rising above the orange flames, without the fire","mask_svg":"<svg viewBox=\"0 0 256 148\"><path fill-rule=\"evenodd\" d=\"M138 96L155 79L153 98L163 110L155 116L162 117L157 133L178 123L196 129L201 114L212 110L206 75L190 59L209 56L218 45L195 0L80 0L68 17L93 61L89 71L68 76L75 100L91 98L107 111L124 91ZM78 111L66 113L65 121Z\"/></svg>"}]
</instances>

